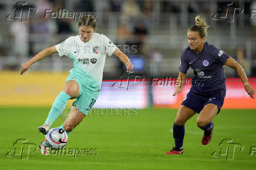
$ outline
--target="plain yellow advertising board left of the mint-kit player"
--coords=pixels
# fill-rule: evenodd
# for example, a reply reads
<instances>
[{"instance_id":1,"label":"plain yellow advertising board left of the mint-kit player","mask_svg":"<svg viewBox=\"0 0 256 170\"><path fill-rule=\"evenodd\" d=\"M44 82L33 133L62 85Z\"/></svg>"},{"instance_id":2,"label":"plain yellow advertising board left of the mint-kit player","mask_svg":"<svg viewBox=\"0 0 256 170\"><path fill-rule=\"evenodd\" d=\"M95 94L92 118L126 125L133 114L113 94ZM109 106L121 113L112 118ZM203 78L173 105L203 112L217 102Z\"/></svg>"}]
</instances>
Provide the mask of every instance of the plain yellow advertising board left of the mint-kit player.
<instances>
[{"instance_id":1,"label":"plain yellow advertising board left of the mint-kit player","mask_svg":"<svg viewBox=\"0 0 256 170\"><path fill-rule=\"evenodd\" d=\"M51 106L68 73L0 72L0 106Z\"/></svg>"}]
</instances>

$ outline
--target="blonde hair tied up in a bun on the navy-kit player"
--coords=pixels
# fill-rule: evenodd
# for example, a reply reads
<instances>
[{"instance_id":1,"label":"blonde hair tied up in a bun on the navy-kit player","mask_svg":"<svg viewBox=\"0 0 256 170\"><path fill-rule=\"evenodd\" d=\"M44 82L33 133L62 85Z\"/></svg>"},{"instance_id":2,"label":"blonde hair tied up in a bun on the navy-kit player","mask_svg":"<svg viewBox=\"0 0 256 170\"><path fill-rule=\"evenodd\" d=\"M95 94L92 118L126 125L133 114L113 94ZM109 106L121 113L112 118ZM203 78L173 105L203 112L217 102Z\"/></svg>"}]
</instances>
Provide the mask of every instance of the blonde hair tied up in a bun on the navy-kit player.
<instances>
[{"instance_id":1,"label":"blonde hair tied up in a bun on the navy-kit player","mask_svg":"<svg viewBox=\"0 0 256 170\"><path fill-rule=\"evenodd\" d=\"M204 22L204 19L202 19L200 15L196 16L195 21L196 24L189 28L188 31L196 31L199 33L200 38L205 38L209 26Z\"/></svg>"}]
</instances>

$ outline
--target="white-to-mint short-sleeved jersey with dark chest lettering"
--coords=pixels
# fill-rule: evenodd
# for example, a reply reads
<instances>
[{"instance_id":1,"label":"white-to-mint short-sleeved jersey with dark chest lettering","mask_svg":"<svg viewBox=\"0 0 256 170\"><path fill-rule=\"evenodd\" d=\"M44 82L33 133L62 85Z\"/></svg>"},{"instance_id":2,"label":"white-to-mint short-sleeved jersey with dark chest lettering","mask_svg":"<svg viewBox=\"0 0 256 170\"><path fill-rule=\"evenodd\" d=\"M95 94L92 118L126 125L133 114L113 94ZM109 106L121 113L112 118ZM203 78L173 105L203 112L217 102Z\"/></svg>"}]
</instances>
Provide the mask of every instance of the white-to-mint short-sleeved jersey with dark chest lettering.
<instances>
[{"instance_id":1,"label":"white-to-mint short-sleeved jersey with dark chest lettering","mask_svg":"<svg viewBox=\"0 0 256 170\"><path fill-rule=\"evenodd\" d=\"M87 89L100 90L106 56L111 56L117 48L109 38L95 32L88 42L82 42L80 35L70 36L55 47L60 57L73 60L70 75L79 79Z\"/></svg>"}]
</instances>

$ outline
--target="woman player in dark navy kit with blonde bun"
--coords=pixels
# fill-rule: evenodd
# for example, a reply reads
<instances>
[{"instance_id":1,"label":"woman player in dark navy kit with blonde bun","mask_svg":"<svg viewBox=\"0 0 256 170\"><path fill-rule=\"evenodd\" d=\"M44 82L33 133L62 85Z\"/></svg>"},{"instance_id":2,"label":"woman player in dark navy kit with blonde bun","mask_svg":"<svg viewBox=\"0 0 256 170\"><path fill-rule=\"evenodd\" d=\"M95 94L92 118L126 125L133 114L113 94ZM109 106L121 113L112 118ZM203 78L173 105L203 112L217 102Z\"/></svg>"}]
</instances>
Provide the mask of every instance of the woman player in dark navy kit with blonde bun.
<instances>
[{"instance_id":1,"label":"woman player in dark navy kit with blonde bun","mask_svg":"<svg viewBox=\"0 0 256 170\"><path fill-rule=\"evenodd\" d=\"M187 31L189 46L181 54L178 74L178 86L173 96L182 91L183 81L189 67L194 70L192 87L181 103L173 124L175 147L165 154L183 154L184 124L195 113L198 113L197 126L204 130L202 144L207 145L213 134L213 118L220 112L225 98L225 73L223 65L237 70L244 89L254 98L254 89L250 86L244 69L223 50L204 42L208 25L196 16L196 25Z\"/></svg>"}]
</instances>

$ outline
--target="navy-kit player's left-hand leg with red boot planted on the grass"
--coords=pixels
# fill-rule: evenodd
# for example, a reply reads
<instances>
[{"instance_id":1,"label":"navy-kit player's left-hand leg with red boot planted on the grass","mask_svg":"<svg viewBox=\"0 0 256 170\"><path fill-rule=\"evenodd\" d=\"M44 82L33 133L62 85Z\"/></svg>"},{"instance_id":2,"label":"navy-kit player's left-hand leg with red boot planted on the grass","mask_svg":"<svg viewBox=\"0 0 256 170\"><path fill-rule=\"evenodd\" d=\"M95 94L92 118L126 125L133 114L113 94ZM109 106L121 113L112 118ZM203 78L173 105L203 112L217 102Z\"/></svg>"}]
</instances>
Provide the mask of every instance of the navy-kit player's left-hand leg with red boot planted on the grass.
<instances>
[{"instance_id":1,"label":"navy-kit player's left-hand leg with red boot planted on the grass","mask_svg":"<svg viewBox=\"0 0 256 170\"><path fill-rule=\"evenodd\" d=\"M181 105L178 109L177 116L173 124L173 138L175 141L175 147L166 152L166 154L183 154L183 140L185 135L185 123L190 119L196 112L186 106Z\"/></svg>"}]
</instances>

